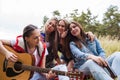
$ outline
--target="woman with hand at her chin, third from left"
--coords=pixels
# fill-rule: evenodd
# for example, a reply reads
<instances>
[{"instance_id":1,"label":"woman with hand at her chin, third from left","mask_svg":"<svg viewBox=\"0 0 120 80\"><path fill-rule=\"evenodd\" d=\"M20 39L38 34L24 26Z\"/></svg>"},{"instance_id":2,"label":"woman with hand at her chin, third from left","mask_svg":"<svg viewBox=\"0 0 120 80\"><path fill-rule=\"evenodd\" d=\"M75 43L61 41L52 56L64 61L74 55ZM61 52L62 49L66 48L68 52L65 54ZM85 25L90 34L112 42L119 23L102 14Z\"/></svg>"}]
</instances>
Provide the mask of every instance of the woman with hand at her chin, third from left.
<instances>
[{"instance_id":1,"label":"woman with hand at her chin, third from left","mask_svg":"<svg viewBox=\"0 0 120 80\"><path fill-rule=\"evenodd\" d=\"M68 46L66 46L66 38L67 38L67 31L68 31L68 21L65 19L60 19L58 21L57 25L57 31L58 31L58 50L62 53L61 55L61 61L63 64L67 65L68 71L71 71L73 69L74 61L72 59L71 52L68 49Z\"/></svg>"}]
</instances>

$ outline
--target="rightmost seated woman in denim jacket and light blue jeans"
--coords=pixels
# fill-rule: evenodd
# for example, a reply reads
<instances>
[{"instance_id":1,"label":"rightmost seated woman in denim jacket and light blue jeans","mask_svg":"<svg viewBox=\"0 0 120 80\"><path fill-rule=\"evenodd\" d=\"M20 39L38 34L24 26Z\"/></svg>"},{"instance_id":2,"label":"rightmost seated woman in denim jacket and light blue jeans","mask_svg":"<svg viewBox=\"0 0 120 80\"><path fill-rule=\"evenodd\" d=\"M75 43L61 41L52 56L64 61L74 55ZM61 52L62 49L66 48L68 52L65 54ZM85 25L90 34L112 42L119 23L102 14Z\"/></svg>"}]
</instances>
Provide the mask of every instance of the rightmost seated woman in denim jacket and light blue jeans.
<instances>
[{"instance_id":1,"label":"rightmost seated woman in denim jacket and light blue jeans","mask_svg":"<svg viewBox=\"0 0 120 80\"><path fill-rule=\"evenodd\" d=\"M90 41L82 26L77 22L69 25L69 45L74 56L74 67L85 74L92 74L95 80L113 80L104 68L108 65L120 76L120 52L106 59L105 52L97 38Z\"/></svg>"}]
</instances>

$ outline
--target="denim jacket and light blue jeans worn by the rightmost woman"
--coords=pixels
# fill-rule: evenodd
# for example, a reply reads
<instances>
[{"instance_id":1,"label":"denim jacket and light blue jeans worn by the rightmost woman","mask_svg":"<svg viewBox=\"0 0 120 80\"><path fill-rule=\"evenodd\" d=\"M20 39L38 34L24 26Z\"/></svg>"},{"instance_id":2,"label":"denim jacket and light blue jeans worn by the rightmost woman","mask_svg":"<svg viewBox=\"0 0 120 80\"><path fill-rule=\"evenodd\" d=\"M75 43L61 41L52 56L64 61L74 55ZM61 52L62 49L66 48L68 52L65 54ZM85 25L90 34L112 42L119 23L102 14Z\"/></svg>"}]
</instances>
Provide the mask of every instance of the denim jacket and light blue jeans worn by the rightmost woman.
<instances>
[{"instance_id":1,"label":"denim jacket and light blue jeans worn by the rightmost woman","mask_svg":"<svg viewBox=\"0 0 120 80\"><path fill-rule=\"evenodd\" d=\"M106 69L99 66L93 60L87 60L88 55L93 54L96 56L101 56L105 59L105 52L100 45L100 42L97 38L93 42L90 42L86 39L86 44L82 44L82 48L78 48L75 42L70 42L70 49L72 54L74 55L75 60L75 68L80 71L84 71L85 73L91 73L95 80L113 80ZM120 52L113 53L108 58L106 58L111 68L118 76L118 80L120 80Z\"/></svg>"}]
</instances>

